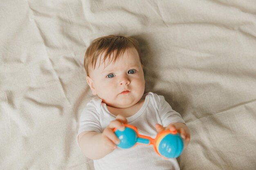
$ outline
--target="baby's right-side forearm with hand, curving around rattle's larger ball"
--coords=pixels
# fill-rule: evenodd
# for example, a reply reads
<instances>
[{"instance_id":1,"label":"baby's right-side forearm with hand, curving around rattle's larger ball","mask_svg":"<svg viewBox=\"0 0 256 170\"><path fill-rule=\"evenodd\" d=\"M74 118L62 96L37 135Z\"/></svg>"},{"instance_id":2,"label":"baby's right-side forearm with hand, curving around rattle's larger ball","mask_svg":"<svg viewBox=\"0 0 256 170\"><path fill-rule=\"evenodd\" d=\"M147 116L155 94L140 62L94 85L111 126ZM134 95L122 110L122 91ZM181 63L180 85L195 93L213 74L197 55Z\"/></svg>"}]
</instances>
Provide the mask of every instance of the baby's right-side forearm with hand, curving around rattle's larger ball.
<instances>
[{"instance_id":1,"label":"baby's right-side forearm with hand, curving around rattle's larger ball","mask_svg":"<svg viewBox=\"0 0 256 170\"><path fill-rule=\"evenodd\" d=\"M185 124L180 123L180 122L175 122L175 123L169 124L167 127L163 127L160 124L156 124L155 128L158 133L163 130L168 130L168 129L171 131L177 130L177 132L180 133L180 136L182 137L182 139L184 141L184 149L189 145L190 132L189 132L189 128Z\"/></svg>"}]
</instances>

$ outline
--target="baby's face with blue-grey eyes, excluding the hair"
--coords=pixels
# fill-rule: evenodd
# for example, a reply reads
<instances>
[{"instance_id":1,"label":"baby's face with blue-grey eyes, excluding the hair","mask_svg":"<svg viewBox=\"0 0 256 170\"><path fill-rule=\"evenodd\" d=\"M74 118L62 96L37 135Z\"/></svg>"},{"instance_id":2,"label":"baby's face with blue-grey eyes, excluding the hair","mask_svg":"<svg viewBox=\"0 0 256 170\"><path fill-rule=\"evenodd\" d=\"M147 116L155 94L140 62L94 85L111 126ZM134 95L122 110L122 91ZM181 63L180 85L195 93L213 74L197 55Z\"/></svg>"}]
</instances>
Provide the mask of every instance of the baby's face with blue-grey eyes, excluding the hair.
<instances>
[{"instance_id":1,"label":"baby's face with blue-grey eyes, excluding the hair","mask_svg":"<svg viewBox=\"0 0 256 170\"><path fill-rule=\"evenodd\" d=\"M98 58L95 69L91 69L90 77L87 77L92 94L116 108L128 108L139 102L144 94L145 80L137 50L127 49L119 60L111 62L105 68L102 60L99 66L100 60L101 57ZM105 65L107 63L108 59L105 60Z\"/></svg>"}]
</instances>

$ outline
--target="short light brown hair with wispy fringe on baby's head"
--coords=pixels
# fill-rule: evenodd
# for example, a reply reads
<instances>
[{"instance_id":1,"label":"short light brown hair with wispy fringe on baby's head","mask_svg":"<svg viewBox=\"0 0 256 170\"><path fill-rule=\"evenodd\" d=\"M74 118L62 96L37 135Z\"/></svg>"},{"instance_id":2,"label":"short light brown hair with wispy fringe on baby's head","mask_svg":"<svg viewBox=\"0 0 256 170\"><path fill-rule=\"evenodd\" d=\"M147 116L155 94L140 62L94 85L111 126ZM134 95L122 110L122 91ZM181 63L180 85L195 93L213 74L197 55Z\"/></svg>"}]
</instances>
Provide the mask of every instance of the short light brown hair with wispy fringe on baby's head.
<instances>
[{"instance_id":1,"label":"short light brown hair with wispy fringe on baby's head","mask_svg":"<svg viewBox=\"0 0 256 170\"><path fill-rule=\"evenodd\" d=\"M102 53L105 52L103 62L105 62L105 60L108 58L108 64L110 64L110 62L115 62L118 60L119 57L124 54L126 49L132 47L137 50L139 54L139 60L141 64L143 64L139 53L138 42L133 38L120 35L108 35L93 40L85 52L83 62L87 75L89 76L90 68L95 69L97 59L99 56L101 56ZM112 54L113 57L110 61L110 56Z\"/></svg>"}]
</instances>

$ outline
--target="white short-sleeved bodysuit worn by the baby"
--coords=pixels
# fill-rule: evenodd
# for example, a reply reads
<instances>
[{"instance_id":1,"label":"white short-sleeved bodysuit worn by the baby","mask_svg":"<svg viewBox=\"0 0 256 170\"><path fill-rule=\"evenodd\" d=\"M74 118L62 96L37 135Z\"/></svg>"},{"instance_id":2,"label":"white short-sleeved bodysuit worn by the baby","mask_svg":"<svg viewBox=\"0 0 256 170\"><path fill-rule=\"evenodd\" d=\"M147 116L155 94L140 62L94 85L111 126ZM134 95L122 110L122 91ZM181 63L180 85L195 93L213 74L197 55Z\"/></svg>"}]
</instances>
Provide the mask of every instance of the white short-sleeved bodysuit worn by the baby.
<instances>
[{"instance_id":1,"label":"white short-sleeved bodysuit worn by the baby","mask_svg":"<svg viewBox=\"0 0 256 170\"><path fill-rule=\"evenodd\" d=\"M166 127L173 122L185 123L179 113L174 111L163 96L146 93L143 106L134 115L127 117L128 124L136 126L140 135L155 138L155 124ZM99 98L92 99L80 117L79 133L87 130L102 133L115 120ZM157 155L152 145L136 145L129 149L117 148L105 157L94 160L95 170L179 170L176 159L164 159Z\"/></svg>"}]
</instances>

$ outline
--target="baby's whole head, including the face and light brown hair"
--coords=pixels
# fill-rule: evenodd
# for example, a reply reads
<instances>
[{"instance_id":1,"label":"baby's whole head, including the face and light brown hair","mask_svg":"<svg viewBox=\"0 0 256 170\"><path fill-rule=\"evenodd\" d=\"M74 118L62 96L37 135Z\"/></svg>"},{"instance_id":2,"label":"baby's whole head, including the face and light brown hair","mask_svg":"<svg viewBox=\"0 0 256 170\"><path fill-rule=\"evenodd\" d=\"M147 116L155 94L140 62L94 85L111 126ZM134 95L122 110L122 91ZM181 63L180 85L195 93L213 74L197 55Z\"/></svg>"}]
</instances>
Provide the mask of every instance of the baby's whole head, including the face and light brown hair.
<instances>
[{"instance_id":1,"label":"baby's whole head, including the face and light brown hair","mask_svg":"<svg viewBox=\"0 0 256 170\"><path fill-rule=\"evenodd\" d=\"M84 59L92 94L115 108L128 108L145 90L143 63L137 42L129 37L109 35L95 39Z\"/></svg>"}]
</instances>

